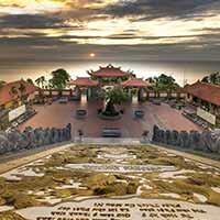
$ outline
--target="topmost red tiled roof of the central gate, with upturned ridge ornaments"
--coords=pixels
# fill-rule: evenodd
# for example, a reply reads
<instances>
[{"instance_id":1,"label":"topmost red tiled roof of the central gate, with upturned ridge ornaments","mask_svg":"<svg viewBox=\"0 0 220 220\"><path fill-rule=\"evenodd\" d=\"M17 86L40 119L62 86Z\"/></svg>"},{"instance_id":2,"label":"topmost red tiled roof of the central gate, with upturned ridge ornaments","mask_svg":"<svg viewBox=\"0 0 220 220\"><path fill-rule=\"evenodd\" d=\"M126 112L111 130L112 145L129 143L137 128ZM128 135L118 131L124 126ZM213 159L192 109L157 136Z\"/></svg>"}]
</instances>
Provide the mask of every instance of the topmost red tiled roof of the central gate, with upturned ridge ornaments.
<instances>
[{"instance_id":1,"label":"topmost red tiled roof of the central gate, with upturned ridge ornaments","mask_svg":"<svg viewBox=\"0 0 220 220\"><path fill-rule=\"evenodd\" d=\"M107 67L99 67L99 70L90 70L88 72L88 74L97 77L124 77L131 75L128 72L121 70L120 67L113 67L112 65L109 65Z\"/></svg>"}]
</instances>

